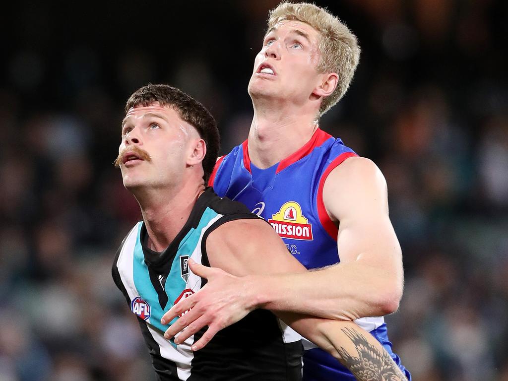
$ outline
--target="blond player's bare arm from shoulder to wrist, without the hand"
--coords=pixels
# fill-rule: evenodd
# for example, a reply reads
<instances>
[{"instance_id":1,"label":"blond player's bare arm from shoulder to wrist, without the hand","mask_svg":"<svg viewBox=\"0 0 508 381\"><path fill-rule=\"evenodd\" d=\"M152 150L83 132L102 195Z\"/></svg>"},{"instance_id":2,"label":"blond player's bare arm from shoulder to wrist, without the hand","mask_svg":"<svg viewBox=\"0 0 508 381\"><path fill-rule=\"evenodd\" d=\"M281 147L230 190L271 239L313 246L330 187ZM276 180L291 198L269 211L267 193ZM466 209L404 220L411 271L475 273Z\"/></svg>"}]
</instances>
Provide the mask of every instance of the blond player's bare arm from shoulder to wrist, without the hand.
<instances>
[{"instance_id":1,"label":"blond player's bare arm from shoulder to wrist, without the hand","mask_svg":"<svg viewBox=\"0 0 508 381\"><path fill-rule=\"evenodd\" d=\"M348 158L328 176L323 200L331 219L340 220L341 262L305 274L252 279L260 284L252 296L255 305L341 320L394 312L402 296L402 255L383 174L366 158Z\"/></svg>"}]
</instances>

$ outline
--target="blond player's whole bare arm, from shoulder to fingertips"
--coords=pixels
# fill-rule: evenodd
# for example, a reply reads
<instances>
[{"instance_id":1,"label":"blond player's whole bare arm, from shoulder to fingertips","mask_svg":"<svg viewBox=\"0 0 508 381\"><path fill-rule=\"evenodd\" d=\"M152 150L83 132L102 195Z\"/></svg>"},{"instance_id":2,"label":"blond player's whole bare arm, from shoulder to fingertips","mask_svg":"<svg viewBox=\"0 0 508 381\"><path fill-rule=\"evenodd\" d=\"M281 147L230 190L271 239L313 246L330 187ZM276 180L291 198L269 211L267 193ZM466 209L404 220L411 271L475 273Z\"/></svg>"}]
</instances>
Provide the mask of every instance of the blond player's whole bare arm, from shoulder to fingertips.
<instances>
[{"instance_id":1,"label":"blond player's whole bare arm, from shoulder to fingertips","mask_svg":"<svg viewBox=\"0 0 508 381\"><path fill-rule=\"evenodd\" d=\"M221 328L255 308L351 321L395 311L402 295L402 257L388 216L383 174L371 161L350 157L328 176L323 199L332 220L340 220L339 264L319 271L246 272L241 277L227 273L224 264L226 271L212 269L207 287L180 301L165 319L171 321L198 302L209 303L209 308L186 321L213 321Z\"/></svg>"}]
</instances>

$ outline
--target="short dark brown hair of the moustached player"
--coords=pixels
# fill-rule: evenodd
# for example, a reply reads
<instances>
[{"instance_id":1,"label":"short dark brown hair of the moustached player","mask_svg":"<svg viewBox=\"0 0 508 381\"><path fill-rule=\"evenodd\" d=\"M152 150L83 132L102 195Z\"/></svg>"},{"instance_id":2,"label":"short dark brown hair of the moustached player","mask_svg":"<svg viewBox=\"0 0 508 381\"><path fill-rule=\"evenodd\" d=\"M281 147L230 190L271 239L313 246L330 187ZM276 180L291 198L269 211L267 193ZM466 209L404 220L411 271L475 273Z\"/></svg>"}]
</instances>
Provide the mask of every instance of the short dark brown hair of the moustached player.
<instances>
[{"instance_id":1,"label":"short dark brown hair of the moustached player","mask_svg":"<svg viewBox=\"0 0 508 381\"><path fill-rule=\"evenodd\" d=\"M136 106L150 106L158 102L161 106L171 106L178 116L194 126L205 141L206 154L203 158L203 178L205 184L213 171L219 153L219 132L212 114L200 102L182 90L169 85L151 83L137 89L125 104L125 114Z\"/></svg>"}]
</instances>

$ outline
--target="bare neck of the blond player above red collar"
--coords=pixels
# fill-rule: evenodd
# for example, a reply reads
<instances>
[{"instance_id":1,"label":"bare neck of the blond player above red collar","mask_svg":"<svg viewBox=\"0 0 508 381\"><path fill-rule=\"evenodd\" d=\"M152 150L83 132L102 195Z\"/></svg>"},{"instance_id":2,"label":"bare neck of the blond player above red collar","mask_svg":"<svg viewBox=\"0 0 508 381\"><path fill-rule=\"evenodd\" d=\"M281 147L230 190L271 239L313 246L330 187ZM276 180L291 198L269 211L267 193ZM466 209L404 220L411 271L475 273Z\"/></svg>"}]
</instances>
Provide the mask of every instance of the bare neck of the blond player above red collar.
<instances>
[{"instance_id":1,"label":"bare neck of the blond player above red collar","mask_svg":"<svg viewBox=\"0 0 508 381\"><path fill-rule=\"evenodd\" d=\"M250 161L268 168L307 143L318 128L315 111L266 109L254 106L248 150Z\"/></svg>"}]
</instances>

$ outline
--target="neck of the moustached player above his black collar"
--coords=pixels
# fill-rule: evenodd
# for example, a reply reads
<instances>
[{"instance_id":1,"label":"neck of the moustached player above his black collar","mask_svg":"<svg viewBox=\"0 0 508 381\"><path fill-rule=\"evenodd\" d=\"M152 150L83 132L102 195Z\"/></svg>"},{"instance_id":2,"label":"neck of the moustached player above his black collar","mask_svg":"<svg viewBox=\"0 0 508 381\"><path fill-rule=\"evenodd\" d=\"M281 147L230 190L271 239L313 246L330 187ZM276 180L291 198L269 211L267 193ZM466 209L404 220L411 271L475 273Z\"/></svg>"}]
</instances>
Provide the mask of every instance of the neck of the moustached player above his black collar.
<instances>
[{"instance_id":1,"label":"neck of the moustached player above his black collar","mask_svg":"<svg viewBox=\"0 0 508 381\"><path fill-rule=\"evenodd\" d=\"M146 189L135 194L148 233L148 247L163 251L182 230L198 197L202 182L177 189Z\"/></svg>"}]
</instances>

